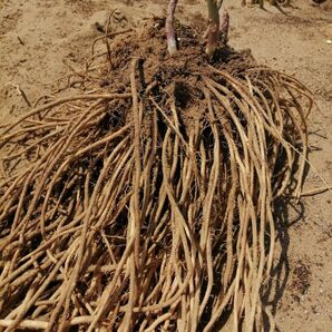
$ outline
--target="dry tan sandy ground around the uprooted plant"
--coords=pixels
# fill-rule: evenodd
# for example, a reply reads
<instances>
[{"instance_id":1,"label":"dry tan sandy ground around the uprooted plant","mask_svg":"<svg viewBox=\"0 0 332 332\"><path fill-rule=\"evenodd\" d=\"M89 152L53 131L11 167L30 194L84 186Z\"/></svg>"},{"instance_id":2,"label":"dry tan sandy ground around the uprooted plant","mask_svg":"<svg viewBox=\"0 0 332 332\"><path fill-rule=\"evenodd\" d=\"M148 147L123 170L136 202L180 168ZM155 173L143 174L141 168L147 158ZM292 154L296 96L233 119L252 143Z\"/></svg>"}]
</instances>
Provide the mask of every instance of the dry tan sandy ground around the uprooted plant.
<instances>
[{"instance_id":1,"label":"dry tan sandy ground around the uprooted plant","mask_svg":"<svg viewBox=\"0 0 332 332\"><path fill-rule=\"evenodd\" d=\"M0 125L29 109L41 95L52 94L57 79L79 69L118 9L118 29L139 27L162 16L166 0L0 0ZM332 0L313 7L291 1L281 12L242 8L224 1L231 14L230 43L250 48L271 68L294 75L314 94L319 109L310 117L311 168L305 191L332 184ZM203 0L180 0L178 19L198 27ZM67 65L66 65L67 64ZM23 96L26 98L23 98ZM26 99L26 100L25 100ZM279 261L273 292L266 299L280 331L332 331L332 194L303 198L282 207Z\"/></svg>"}]
</instances>

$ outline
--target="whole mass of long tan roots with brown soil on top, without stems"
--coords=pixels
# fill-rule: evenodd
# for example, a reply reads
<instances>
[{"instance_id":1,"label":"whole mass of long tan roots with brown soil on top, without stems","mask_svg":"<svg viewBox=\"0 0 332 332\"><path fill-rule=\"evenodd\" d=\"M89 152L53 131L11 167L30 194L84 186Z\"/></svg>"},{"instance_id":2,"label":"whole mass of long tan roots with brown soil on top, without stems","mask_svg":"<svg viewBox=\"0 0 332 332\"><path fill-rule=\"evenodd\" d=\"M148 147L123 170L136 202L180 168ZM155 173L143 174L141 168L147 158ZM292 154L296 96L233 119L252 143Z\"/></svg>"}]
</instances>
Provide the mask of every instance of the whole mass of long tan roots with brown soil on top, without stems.
<instances>
[{"instance_id":1,"label":"whole mass of long tan roots with brown soil on top, without stems","mask_svg":"<svg viewBox=\"0 0 332 332\"><path fill-rule=\"evenodd\" d=\"M208 60L188 27L169 57L162 29L96 40L80 95L1 128L0 330L272 322L274 204L301 195L311 96L248 52Z\"/></svg>"}]
</instances>

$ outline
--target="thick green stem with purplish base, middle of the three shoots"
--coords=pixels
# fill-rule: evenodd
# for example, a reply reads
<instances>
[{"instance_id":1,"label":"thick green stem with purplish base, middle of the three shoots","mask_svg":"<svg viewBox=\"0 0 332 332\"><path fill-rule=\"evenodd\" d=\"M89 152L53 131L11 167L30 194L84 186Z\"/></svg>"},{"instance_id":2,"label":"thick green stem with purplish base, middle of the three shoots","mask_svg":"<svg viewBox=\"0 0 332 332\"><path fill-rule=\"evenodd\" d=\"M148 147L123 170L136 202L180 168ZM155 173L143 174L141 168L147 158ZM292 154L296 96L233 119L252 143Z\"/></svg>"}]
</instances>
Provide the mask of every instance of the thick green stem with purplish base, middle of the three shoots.
<instances>
[{"instance_id":1,"label":"thick green stem with purplish base, middle of the three shoots","mask_svg":"<svg viewBox=\"0 0 332 332\"><path fill-rule=\"evenodd\" d=\"M207 45L206 45L206 53L208 56L213 56L215 49L218 46L218 36L219 36L219 14L218 14L218 6L216 0L207 0L207 9L208 9L208 35L207 35Z\"/></svg>"}]
</instances>

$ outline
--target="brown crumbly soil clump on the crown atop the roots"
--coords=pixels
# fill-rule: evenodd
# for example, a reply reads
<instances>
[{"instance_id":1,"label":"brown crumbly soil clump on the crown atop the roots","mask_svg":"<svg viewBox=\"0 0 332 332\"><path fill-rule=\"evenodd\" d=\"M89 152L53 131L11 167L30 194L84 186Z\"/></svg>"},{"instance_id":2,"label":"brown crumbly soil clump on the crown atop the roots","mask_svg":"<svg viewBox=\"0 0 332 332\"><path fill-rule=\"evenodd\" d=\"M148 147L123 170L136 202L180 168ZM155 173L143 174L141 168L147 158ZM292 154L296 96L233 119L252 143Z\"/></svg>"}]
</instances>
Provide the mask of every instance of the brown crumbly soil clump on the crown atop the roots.
<instances>
[{"instance_id":1,"label":"brown crumbly soil clump on the crown atop the roots","mask_svg":"<svg viewBox=\"0 0 332 332\"><path fill-rule=\"evenodd\" d=\"M104 72L100 84L105 85L105 79L110 76L113 86L116 81L121 82L120 87L115 87L113 91L124 91L124 87L129 86L128 71L133 58L139 59L139 88L144 90L147 86L154 85L156 95L163 94L165 87L178 79L187 81L202 95L202 77L213 76L211 67L226 70L241 79L244 79L245 70L257 67L250 50L238 52L228 46L219 48L209 59L205 53L204 43L187 26L178 27L178 52L170 57L167 52L166 37L160 33L164 29L165 20L155 19L143 29L138 38L137 32L127 32L116 39L109 47L109 68Z\"/></svg>"}]
</instances>

